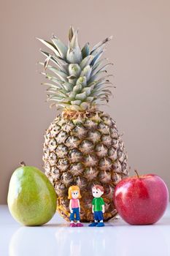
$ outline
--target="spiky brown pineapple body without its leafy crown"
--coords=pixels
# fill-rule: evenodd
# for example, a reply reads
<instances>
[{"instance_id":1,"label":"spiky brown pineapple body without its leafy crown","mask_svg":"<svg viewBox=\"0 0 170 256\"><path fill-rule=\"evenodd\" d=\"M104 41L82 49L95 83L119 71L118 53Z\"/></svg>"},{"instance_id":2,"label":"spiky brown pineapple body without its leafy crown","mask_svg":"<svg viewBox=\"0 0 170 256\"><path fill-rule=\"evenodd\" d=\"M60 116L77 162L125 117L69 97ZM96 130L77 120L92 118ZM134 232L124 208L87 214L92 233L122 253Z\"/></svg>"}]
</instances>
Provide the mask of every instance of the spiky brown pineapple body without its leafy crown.
<instances>
[{"instance_id":1,"label":"spiky brown pineapple body without its leafy crown","mask_svg":"<svg viewBox=\"0 0 170 256\"><path fill-rule=\"evenodd\" d=\"M127 155L115 121L101 111L72 118L60 114L45 134L45 173L58 195L58 212L69 221L68 189L77 184L82 198L81 220L93 220L91 188L104 187L104 220L115 217L113 203L116 184L128 176Z\"/></svg>"}]
</instances>

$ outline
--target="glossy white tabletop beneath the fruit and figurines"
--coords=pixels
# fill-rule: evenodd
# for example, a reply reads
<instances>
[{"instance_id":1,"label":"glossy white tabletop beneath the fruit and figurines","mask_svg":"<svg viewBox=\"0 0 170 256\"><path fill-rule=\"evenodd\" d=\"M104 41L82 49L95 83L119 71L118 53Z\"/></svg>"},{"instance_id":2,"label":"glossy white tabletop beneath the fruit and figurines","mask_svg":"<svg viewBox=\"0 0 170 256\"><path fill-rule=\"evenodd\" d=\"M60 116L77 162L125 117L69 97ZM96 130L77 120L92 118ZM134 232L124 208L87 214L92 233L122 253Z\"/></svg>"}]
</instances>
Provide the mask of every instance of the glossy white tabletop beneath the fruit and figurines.
<instances>
[{"instance_id":1,"label":"glossy white tabletop beneath the fruit and figurines","mask_svg":"<svg viewBox=\"0 0 170 256\"><path fill-rule=\"evenodd\" d=\"M105 227L69 227L58 214L41 227L23 227L0 206L1 256L168 256L170 206L155 225L128 225L122 219Z\"/></svg>"}]
</instances>

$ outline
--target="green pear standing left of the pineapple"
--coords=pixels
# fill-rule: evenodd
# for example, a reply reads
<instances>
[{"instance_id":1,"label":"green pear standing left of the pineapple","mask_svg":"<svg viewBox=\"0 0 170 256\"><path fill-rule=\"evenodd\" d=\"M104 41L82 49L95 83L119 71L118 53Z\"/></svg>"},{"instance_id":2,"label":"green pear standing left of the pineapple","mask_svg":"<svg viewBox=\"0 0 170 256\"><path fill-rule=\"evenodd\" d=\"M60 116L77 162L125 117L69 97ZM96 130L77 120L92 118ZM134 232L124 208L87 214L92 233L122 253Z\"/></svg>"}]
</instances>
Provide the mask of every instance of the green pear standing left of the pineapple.
<instances>
[{"instance_id":1,"label":"green pear standing left of the pineapple","mask_svg":"<svg viewBox=\"0 0 170 256\"><path fill-rule=\"evenodd\" d=\"M20 164L9 182L9 211L23 225L43 225L55 214L55 189L42 171L24 162Z\"/></svg>"}]
</instances>

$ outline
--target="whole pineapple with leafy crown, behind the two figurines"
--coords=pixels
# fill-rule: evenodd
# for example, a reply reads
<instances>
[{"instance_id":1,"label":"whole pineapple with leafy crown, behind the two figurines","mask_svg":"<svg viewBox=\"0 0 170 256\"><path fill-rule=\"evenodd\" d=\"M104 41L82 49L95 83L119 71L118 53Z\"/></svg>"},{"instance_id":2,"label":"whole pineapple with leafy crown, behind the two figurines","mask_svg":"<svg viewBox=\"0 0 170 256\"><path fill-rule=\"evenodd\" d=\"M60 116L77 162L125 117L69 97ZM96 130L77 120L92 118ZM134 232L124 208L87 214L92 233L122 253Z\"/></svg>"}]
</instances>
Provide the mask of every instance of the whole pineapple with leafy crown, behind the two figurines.
<instances>
[{"instance_id":1,"label":"whole pineapple with leafy crown, behind the two figurines","mask_svg":"<svg viewBox=\"0 0 170 256\"><path fill-rule=\"evenodd\" d=\"M39 39L39 38L38 38ZM62 112L50 124L45 134L45 173L58 195L57 210L69 220L68 189L78 185L81 190L81 219L90 222L93 184L104 187L106 211L104 220L117 215L112 196L115 185L128 176L127 155L115 121L98 110L98 105L109 101L110 75L106 75L101 59L108 37L92 50L89 43L80 49L77 31L69 29L69 45L58 37L52 42L39 39L51 53L40 50L46 57L42 74L50 80L47 101ZM48 71L47 71L48 70Z\"/></svg>"}]
</instances>

